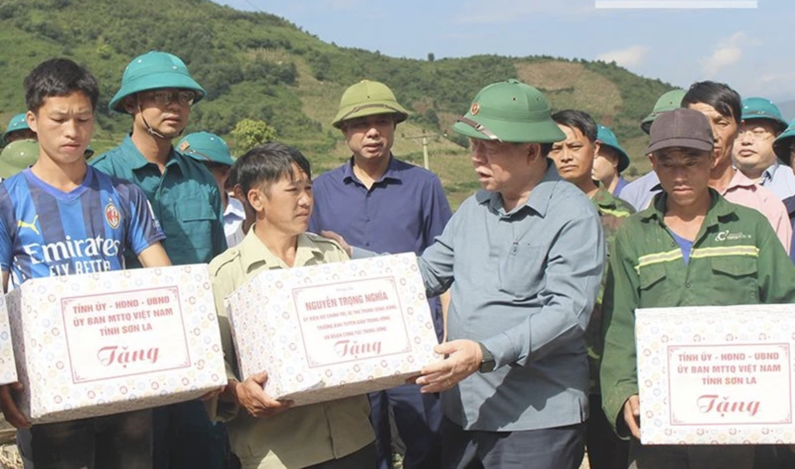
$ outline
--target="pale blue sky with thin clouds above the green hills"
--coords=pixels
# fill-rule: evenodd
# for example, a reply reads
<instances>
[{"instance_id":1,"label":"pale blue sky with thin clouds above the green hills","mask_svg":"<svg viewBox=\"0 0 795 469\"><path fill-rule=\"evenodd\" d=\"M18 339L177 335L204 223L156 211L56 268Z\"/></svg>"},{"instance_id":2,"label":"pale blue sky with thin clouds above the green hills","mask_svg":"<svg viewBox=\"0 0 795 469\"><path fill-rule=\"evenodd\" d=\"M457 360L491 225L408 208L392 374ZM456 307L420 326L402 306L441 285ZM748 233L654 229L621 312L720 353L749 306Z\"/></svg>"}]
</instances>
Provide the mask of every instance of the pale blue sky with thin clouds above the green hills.
<instances>
[{"instance_id":1,"label":"pale blue sky with thin clouds above the green hills","mask_svg":"<svg viewBox=\"0 0 795 469\"><path fill-rule=\"evenodd\" d=\"M649 1L661 2L635 0ZM688 1L702 8L605 9L597 0L217 0L276 14L325 42L388 56L615 60L679 87L715 79L743 97L795 99L795 1L721 0L756 4L731 9Z\"/></svg>"}]
</instances>

